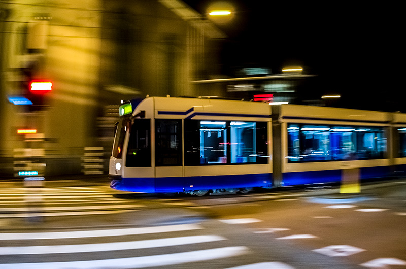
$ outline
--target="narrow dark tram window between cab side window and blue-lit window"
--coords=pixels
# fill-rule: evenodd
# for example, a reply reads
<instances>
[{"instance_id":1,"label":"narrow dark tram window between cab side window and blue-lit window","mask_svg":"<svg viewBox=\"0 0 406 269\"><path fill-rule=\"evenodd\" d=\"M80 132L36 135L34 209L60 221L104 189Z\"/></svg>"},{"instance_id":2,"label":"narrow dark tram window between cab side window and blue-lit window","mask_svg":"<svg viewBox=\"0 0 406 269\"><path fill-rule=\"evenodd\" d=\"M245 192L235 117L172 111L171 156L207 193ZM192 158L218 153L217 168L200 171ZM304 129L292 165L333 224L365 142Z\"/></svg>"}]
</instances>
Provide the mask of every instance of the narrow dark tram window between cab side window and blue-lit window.
<instances>
[{"instance_id":1,"label":"narrow dark tram window between cab side window and blue-lit window","mask_svg":"<svg viewBox=\"0 0 406 269\"><path fill-rule=\"evenodd\" d=\"M155 120L155 165L182 165L180 120Z\"/></svg>"}]
</instances>

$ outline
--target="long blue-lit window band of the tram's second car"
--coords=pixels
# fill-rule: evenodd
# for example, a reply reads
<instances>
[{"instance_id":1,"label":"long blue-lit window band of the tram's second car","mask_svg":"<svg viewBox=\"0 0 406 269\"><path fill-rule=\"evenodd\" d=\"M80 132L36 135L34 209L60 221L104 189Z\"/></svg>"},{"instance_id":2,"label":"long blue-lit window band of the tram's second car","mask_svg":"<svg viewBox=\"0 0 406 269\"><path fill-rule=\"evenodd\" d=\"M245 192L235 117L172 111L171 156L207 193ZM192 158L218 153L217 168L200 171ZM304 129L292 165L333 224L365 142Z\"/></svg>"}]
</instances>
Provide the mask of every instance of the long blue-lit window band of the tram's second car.
<instances>
[{"instance_id":1,"label":"long blue-lit window band of the tram's second car","mask_svg":"<svg viewBox=\"0 0 406 269\"><path fill-rule=\"evenodd\" d=\"M289 162L380 159L386 147L383 128L288 125Z\"/></svg>"}]
</instances>

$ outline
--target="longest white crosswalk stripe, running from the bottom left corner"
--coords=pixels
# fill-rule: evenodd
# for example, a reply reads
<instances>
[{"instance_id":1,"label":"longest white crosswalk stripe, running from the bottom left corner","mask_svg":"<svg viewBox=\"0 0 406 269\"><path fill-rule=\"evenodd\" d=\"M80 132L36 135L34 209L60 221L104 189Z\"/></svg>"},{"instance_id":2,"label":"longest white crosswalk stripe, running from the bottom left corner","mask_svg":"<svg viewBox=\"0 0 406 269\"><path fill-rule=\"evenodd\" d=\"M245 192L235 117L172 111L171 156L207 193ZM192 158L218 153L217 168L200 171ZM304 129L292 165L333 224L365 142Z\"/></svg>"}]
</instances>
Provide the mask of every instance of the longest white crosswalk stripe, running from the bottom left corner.
<instances>
[{"instance_id":1,"label":"longest white crosswalk stripe, running from the bottom left corner","mask_svg":"<svg viewBox=\"0 0 406 269\"><path fill-rule=\"evenodd\" d=\"M156 266L168 266L186 262L206 261L212 259L228 258L233 256L249 254L247 247L224 247L206 250L197 250L189 252L180 252L173 254L162 254L153 256L118 258L106 260L85 260L85 261L65 261L65 262L40 262L40 263L3 263L0 264L2 269L58 269L58 268L75 268L75 269L99 269L99 268L144 268Z\"/></svg>"}]
</instances>

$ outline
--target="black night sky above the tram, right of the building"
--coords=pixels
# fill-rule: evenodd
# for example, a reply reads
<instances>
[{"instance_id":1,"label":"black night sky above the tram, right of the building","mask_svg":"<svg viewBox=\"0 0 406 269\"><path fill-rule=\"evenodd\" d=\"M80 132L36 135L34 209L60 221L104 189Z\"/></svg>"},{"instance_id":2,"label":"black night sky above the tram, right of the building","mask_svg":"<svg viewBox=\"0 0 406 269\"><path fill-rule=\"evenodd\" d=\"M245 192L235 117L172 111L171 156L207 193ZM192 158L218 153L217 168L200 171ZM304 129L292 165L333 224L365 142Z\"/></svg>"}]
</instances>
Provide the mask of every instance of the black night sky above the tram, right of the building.
<instances>
[{"instance_id":1,"label":"black night sky above the tram, right of the building","mask_svg":"<svg viewBox=\"0 0 406 269\"><path fill-rule=\"evenodd\" d=\"M184 1L201 14L213 0ZM228 1L233 18L217 24L228 36L224 73L239 67L300 65L318 75L321 94L338 93L349 107L406 112L399 70L404 58L400 6L317 2ZM373 6L376 5L376 6Z\"/></svg>"}]
</instances>

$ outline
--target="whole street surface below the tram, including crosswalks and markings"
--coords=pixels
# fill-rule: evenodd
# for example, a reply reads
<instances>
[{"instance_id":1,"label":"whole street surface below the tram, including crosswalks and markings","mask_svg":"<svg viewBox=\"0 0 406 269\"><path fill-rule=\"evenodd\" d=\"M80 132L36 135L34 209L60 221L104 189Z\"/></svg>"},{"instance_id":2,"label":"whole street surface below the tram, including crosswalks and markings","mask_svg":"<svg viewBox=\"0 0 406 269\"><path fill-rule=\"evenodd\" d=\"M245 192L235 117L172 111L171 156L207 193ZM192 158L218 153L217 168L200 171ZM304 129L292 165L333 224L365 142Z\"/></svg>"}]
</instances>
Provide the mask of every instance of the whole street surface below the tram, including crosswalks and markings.
<instances>
[{"instance_id":1,"label":"whole street surface below the tram, including crosswalks and markings","mask_svg":"<svg viewBox=\"0 0 406 269\"><path fill-rule=\"evenodd\" d=\"M246 195L0 182L0 268L406 268L406 180Z\"/></svg>"}]
</instances>

